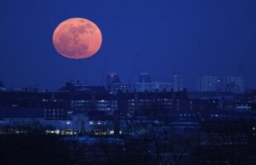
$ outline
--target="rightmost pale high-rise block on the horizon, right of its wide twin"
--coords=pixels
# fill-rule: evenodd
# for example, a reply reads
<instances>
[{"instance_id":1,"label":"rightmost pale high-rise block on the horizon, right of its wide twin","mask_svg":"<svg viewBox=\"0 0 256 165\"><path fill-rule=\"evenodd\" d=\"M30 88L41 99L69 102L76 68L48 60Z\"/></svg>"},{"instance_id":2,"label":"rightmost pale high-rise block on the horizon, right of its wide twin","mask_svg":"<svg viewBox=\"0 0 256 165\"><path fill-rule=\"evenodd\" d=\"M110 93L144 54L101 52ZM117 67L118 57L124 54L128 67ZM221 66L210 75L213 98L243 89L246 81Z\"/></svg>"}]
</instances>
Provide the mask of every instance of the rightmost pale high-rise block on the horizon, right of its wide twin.
<instances>
[{"instance_id":1,"label":"rightmost pale high-rise block on the horizon, right of its wide twin","mask_svg":"<svg viewBox=\"0 0 256 165\"><path fill-rule=\"evenodd\" d=\"M235 92L235 93L244 92L244 77L225 76L224 87L226 92Z\"/></svg>"}]
</instances>

